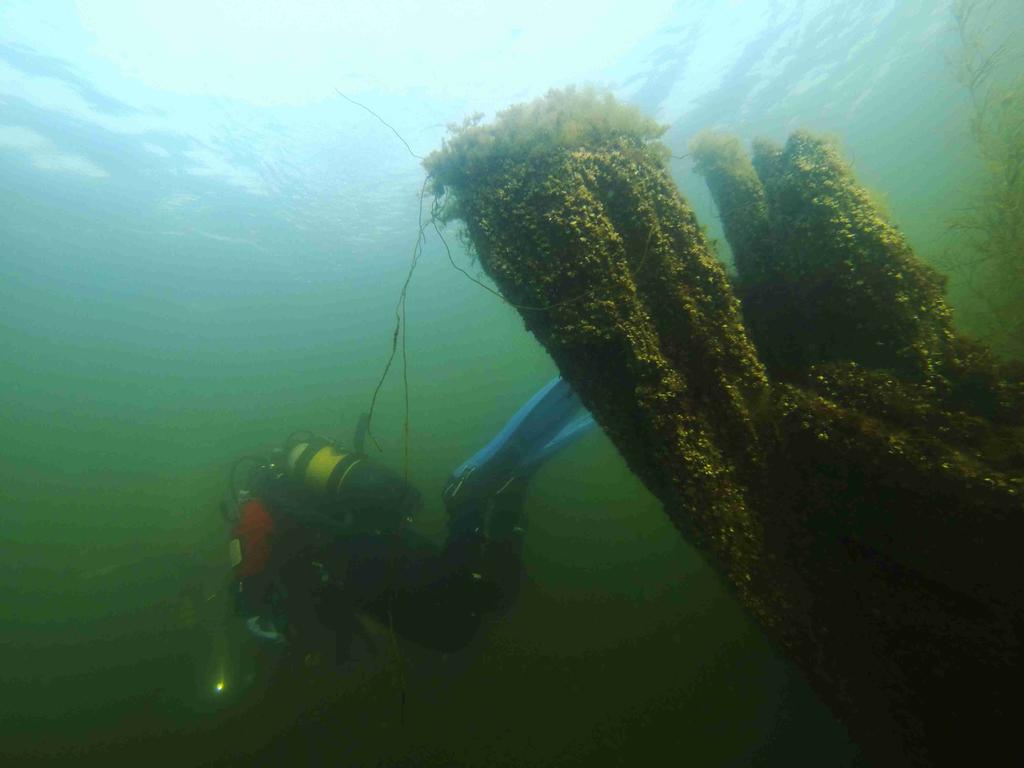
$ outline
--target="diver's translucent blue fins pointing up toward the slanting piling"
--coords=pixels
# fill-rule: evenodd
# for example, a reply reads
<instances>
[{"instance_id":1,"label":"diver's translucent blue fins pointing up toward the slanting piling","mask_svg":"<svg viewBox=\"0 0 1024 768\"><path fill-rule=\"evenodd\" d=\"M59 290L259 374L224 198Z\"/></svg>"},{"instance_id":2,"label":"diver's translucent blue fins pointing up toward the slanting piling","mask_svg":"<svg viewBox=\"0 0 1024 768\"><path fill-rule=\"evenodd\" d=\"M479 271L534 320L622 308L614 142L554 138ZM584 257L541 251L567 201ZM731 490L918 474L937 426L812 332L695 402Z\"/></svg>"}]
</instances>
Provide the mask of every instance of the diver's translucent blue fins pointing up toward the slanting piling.
<instances>
[{"instance_id":1,"label":"diver's translucent blue fins pointing up toward the slanting piling","mask_svg":"<svg viewBox=\"0 0 1024 768\"><path fill-rule=\"evenodd\" d=\"M521 504L530 475L593 427L569 385L560 377L548 382L452 474L442 494L452 518L450 542L478 531L503 493L520 497Z\"/></svg>"}]
</instances>

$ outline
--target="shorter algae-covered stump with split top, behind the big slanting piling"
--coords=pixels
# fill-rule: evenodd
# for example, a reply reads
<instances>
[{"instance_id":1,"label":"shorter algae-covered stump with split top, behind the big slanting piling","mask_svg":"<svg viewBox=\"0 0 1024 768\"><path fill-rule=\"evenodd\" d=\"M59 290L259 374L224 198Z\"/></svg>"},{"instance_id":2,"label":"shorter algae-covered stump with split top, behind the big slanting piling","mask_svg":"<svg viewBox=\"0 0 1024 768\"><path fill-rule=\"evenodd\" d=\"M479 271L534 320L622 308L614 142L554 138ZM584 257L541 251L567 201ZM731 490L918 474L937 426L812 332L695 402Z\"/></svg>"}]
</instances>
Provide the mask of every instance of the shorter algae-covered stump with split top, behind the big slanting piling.
<instances>
[{"instance_id":1,"label":"shorter algae-covered stump with split top, behind the big slanting piling","mask_svg":"<svg viewBox=\"0 0 1024 768\"><path fill-rule=\"evenodd\" d=\"M752 163L736 139L702 134L691 150L773 374L853 360L935 376L950 333L943 281L879 215L833 146L798 132L784 147L759 142Z\"/></svg>"}]
</instances>

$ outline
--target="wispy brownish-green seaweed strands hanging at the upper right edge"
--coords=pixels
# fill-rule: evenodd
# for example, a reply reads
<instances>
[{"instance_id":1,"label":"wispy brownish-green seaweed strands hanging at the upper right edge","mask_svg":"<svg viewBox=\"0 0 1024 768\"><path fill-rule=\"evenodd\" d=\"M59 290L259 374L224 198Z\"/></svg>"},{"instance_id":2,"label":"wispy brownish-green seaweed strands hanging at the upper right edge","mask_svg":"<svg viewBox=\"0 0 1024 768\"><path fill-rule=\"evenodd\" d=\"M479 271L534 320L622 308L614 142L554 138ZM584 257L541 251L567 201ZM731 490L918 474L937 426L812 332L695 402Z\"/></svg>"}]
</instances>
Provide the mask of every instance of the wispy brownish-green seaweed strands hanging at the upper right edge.
<instances>
[{"instance_id":1,"label":"wispy brownish-green seaweed strands hanging at the upper right edge","mask_svg":"<svg viewBox=\"0 0 1024 768\"><path fill-rule=\"evenodd\" d=\"M988 43L1002 3L954 0L956 79L970 98L970 130L980 161L967 205L951 217L963 250L948 268L970 288L978 333L1000 352L1024 358L1024 73L1019 38ZM1014 58L1016 54L1017 58ZM1015 69L1016 68L1016 69Z\"/></svg>"}]
</instances>

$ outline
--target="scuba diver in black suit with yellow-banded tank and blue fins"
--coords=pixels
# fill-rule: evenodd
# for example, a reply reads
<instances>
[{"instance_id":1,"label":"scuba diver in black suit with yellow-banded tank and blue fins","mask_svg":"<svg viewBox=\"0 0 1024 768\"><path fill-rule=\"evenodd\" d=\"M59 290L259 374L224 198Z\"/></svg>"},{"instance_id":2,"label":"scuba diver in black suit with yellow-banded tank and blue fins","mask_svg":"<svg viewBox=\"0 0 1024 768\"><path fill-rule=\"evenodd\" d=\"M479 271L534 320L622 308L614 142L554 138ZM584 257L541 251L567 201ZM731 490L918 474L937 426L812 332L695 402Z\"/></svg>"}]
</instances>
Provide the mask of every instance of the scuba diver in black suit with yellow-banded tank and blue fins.
<instances>
[{"instance_id":1,"label":"scuba diver in black suit with yellow-banded tank and blue fins","mask_svg":"<svg viewBox=\"0 0 1024 768\"><path fill-rule=\"evenodd\" d=\"M410 527L419 492L364 452L366 416L354 451L295 433L241 458L223 508L237 611L252 635L306 659L342 664L356 638L372 651L360 614L428 648L464 647L518 594L530 476L593 426L568 384L549 382L453 472L441 546Z\"/></svg>"}]
</instances>

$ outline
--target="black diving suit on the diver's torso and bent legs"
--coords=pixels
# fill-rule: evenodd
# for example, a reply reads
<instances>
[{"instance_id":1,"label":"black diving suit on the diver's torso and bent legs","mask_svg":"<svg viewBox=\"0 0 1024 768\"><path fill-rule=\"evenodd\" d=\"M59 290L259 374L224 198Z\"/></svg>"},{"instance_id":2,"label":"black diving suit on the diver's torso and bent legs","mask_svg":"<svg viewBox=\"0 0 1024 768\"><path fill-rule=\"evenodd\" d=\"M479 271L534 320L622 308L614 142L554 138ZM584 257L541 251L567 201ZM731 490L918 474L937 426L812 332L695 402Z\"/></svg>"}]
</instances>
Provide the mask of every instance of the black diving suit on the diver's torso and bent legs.
<instances>
[{"instance_id":1,"label":"black diving suit on the diver's torso and bent legs","mask_svg":"<svg viewBox=\"0 0 1024 768\"><path fill-rule=\"evenodd\" d=\"M392 493L382 498L393 499L401 481L387 483ZM315 507L301 488L287 478L275 484L260 492L275 511L271 554L259 575L240 583L240 608L269 618L297 648L344 662L353 639L371 643L356 618L365 613L413 642L453 652L473 637L482 614L502 612L518 596L524 479L485 507L450 505L457 524L440 547L407 524L391 532L335 531L318 524L326 513L296 511ZM408 488L396 512L418 503Z\"/></svg>"}]
</instances>

